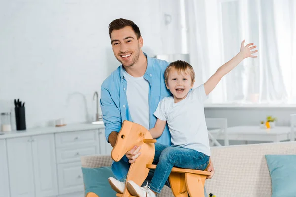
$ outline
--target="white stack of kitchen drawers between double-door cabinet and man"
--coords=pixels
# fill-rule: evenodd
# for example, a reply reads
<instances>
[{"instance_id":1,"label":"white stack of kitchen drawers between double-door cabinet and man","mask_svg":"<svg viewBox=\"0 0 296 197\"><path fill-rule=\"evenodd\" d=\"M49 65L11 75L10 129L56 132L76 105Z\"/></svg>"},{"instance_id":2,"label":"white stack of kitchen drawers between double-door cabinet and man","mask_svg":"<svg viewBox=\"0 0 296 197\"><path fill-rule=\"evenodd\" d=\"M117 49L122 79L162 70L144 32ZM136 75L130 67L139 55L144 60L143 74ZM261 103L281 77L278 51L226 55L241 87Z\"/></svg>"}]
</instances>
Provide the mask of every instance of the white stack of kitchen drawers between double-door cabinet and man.
<instances>
[{"instance_id":1,"label":"white stack of kitchen drawers between double-door cabinet and man","mask_svg":"<svg viewBox=\"0 0 296 197\"><path fill-rule=\"evenodd\" d=\"M56 133L59 194L83 192L80 157L100 154L99 130Z\"/></svg>"}]
</instances>

